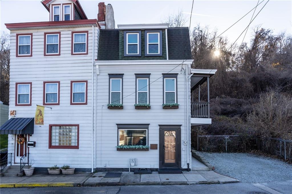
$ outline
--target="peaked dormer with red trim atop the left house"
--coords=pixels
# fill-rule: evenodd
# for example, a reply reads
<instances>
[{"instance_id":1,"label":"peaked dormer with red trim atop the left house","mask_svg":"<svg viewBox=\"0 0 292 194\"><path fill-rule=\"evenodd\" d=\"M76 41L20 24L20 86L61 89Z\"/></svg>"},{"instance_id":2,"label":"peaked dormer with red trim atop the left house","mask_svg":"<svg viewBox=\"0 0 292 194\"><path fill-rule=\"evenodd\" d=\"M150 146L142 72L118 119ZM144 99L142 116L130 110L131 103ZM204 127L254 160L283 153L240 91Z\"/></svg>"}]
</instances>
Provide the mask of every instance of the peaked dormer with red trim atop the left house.
<instances>
[{"instance_id":1,"label":"peaked dormer with red trim atop the left house","mask_svg":"<svg viewBox=\"0 0 292 194\"><path fill-rule=\"evenodd\" d=\"M78 0L43 0L41 3L50 13L50 21L87 20Z\"/></svg>"}]
</instances>

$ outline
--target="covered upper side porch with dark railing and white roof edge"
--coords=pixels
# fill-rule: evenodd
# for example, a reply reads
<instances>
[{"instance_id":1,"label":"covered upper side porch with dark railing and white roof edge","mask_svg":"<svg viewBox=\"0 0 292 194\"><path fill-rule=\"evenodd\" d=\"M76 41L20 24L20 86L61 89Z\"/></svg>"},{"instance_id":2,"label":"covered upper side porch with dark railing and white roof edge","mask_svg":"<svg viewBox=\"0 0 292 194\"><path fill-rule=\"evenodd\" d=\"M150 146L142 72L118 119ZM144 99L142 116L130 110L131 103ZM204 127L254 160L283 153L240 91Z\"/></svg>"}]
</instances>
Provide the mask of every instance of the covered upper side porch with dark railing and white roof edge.
<instances>
[{"instance_id":1,"label":"covered upper side porch with dark railing and white roof edge","mask_svg":"<svg viewBox=\"0 0 292 194\"><path fill-rule=\"evenodd\" d=\"M211 124L209 78L216 69L191 69L191 124ZM201 86L204 84L204 94ZM203 98L202 98L203 97Z\"/></svg>"}]
</instances>

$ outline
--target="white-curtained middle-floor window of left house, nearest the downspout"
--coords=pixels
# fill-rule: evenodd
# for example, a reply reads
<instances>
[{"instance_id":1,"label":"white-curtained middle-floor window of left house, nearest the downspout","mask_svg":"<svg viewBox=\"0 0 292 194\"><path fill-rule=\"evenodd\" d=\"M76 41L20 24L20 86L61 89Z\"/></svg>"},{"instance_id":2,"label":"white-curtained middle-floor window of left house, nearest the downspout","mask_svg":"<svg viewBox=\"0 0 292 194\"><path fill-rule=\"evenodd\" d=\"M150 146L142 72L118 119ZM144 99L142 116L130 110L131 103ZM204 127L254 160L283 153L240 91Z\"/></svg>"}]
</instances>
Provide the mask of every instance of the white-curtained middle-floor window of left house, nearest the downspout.
<instances>
[{"instance_id":1,"label":"white-curtained middle-floor window of left house, nearest the downspout","mask_svg":"<svg viewBox=\"0 0 292 194\"><path fill-rule=\"evenodd\" d=\"M86 82L72 82L72 103L86 103Z\"/></svg>"}]
</instances>

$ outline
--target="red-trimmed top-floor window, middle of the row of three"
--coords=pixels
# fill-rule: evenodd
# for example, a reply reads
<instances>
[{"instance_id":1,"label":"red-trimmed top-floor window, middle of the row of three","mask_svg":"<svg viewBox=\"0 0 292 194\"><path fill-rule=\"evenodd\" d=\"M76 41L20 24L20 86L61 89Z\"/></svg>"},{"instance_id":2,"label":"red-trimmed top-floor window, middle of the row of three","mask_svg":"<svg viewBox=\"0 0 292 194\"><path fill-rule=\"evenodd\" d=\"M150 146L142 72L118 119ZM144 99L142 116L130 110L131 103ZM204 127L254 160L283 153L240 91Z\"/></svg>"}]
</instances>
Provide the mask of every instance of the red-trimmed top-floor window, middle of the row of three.
<instances>
[{"instance_id":1,"label":"red-trimmed top-floor window, middle of the row of three","mask_svg":"<svg viewBox=\"0 0 292 194\"><path fill-rule=\"evenodd\" d=\"M44 56L60 55L61 32L44 33Z\"/></svg>"}]
</instances>

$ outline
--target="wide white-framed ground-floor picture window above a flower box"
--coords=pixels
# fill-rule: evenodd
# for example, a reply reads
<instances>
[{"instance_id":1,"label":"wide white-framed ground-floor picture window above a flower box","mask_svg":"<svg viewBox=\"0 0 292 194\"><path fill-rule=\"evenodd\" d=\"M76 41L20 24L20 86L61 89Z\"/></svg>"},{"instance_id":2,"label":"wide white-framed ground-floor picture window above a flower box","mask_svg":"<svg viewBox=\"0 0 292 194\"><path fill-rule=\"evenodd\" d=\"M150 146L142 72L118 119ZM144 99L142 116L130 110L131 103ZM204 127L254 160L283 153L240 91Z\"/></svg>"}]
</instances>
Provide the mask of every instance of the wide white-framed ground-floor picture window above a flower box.
<instances>
[{"instance_id":1,"label":"wide white-framed ground-floor picture window above a flower box","mask_svg":"<svg viewBox=\"0 0 292 194\"><path fill-rule=\"evenodd\" d=\"M119 145L148 145L148 130L119 129Z\"/></svg>"}]
</instances>

